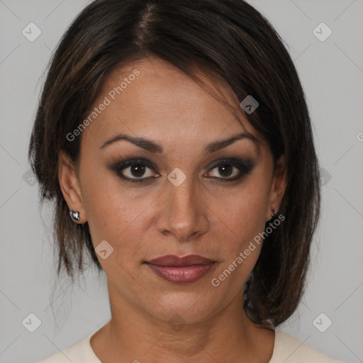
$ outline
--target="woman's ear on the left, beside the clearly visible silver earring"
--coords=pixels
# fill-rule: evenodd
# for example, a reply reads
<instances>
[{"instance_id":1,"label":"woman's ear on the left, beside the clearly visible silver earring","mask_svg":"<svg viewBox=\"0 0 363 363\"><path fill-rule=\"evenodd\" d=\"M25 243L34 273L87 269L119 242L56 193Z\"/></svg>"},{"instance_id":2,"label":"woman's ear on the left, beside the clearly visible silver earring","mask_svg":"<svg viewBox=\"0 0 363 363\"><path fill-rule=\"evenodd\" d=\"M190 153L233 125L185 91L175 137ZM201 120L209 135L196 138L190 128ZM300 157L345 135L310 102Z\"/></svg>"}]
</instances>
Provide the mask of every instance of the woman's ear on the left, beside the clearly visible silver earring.
<instances>
[{"instance_id":1,"label":"woman's ear on the left, beside the clearly visible silver earring","mask_svg":"<svg viewBox=\"0 0 363 363\"><path fill-rule=\"evenodd\" d=\"M65 197L69 211L78 211L80 220L75 223L83 224L86 222L86 213L84 212L84 205L82 200L81 189L79 188L79 181L75 171L75 166L72 160L62 150L58 154L58 180L60 182L60 189Z\"/></svg>"}]
</instances>

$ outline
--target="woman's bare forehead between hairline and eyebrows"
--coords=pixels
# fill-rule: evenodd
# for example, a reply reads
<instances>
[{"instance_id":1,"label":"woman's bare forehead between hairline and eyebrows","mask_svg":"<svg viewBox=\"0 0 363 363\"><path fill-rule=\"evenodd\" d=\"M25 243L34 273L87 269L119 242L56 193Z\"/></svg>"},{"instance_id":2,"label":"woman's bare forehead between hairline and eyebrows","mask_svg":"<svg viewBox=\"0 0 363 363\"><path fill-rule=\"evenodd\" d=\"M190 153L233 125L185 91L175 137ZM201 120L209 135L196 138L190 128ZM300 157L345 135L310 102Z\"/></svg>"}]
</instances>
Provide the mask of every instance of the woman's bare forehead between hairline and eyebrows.
<instances>
[{"instance_id":1,"label":"woman's bare forehead between hairline and eyebrows","mask_svg":"<svg viewBox=\"0 0 363 363\"><path fill-rule=\"evenodd\" d=\"M118 67L108 75L93 107L107 104L86 133L93 143L117 132L162 140L201 143L247 131L262 140L243 116L238 100L217 79L199 77L233 105L229 108L184 72L158 58ZM93 108L92 108L93 109ZM238 115L239 120L235 117ZM186 141L187 140L187 141Z\"/></svg>"}]
</instances>

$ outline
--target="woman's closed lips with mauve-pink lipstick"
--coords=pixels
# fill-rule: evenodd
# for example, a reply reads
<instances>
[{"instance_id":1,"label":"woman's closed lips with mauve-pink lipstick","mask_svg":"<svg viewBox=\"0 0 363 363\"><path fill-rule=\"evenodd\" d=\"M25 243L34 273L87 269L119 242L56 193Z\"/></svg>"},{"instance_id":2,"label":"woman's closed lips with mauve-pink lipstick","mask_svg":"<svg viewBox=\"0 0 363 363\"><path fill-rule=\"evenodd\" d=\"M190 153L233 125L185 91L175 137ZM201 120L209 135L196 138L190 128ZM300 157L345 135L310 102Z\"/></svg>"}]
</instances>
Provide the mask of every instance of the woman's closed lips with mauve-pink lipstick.
<instances>
[{"instance_id":1,"label":"woman's closed lips with mauve-pink lipstick","mask_svg":"<svg viewBox=\"0 0 363 363\"><path fill-rule=\"evenodd\" d=\"M195 282L205 276L218 262L199 255L178 257L165 255L143 262L152 272L174 284Z\"/></svg>"}]
</instances>

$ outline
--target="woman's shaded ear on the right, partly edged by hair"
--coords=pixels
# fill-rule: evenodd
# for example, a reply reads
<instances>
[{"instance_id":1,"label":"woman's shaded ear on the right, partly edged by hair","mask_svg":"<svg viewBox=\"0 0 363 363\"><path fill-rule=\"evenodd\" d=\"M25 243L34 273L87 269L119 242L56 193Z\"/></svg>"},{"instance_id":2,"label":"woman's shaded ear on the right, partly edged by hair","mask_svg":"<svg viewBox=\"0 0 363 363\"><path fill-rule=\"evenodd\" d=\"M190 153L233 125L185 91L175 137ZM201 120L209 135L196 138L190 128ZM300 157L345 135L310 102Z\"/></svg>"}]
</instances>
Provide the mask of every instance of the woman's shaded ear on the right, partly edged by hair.
<instances>
[{"instance_id":1,"label":"woman's shaded ear on the right, partly edged by hair","mask_svg":"<svg viewBox=\"0 0 363 363\"><path fill-rule=\"evenodd\" d=\"M279 210L282 198L285 194L286 189L286 158L285 155L279 157L277 160L275 169L274 169L274 176L272 179L271 189L269 192L269 203L267 205L267 220L272 218L272 210Z\"/></svg>"}]
</instances>

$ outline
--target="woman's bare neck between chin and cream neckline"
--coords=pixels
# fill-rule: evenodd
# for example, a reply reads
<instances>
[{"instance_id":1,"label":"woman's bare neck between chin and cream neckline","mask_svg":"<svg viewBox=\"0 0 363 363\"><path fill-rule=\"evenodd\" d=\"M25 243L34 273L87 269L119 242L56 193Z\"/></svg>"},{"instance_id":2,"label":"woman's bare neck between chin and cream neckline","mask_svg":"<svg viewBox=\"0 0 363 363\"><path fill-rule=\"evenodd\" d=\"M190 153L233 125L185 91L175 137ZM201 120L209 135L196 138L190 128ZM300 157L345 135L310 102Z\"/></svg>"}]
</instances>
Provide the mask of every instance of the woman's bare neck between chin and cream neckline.
<instances>
[{"instance_id":1,"label":"woman's bare neck between chin and cream neckline","mask_svg":"<svg viewBox=\"0 0 363 363\"><path fill-rule=\"evenodd\" d=\"M271 359L274 332L258 328L237 296L222 311L203 321L192 314L166 314L158 318L110 294L111 320L91 340L101 362L261 362ZM170 317L169 317L170 315Z\"/></svg>"}]
</instances>

